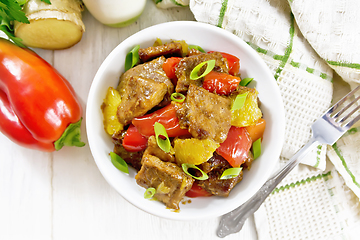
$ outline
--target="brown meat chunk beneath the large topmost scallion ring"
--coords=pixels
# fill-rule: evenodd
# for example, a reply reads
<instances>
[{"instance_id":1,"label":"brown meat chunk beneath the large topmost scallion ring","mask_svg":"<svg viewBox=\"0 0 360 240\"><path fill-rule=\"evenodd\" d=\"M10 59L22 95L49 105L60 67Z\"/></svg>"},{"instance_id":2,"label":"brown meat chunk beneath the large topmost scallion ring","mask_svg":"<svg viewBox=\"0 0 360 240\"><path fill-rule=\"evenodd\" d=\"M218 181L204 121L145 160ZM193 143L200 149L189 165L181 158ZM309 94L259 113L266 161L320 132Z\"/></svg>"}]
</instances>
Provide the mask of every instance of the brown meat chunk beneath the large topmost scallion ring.
<instances>
[{"instance_id":1,"label":"brown meat chunk beneath the large topmost scallion ring","mask_svg":"<svg viewBox=\"0 0 360 240\"><path fill-rule=\"evenodd\" d=\"M214 71L228 73L228 62L219 52L201 53L185 57L179 62L175 70L175 75L178 79L176 92L186 92L190 82L197 86L201 86L202 79L190 80L190 73L198 64L212 59L216 60L215 68L213 69Z\"/></svg>"}]
</instances>

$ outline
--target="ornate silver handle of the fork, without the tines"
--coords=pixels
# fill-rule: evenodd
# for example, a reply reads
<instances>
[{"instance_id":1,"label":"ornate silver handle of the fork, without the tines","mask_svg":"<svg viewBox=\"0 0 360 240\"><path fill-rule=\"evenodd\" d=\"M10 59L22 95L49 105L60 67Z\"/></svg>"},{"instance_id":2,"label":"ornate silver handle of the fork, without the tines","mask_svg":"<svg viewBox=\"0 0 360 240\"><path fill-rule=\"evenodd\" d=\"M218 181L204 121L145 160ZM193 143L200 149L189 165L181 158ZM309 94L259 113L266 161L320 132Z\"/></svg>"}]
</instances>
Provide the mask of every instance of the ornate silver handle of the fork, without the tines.
<instances>
[{"instance_id":1,"label":"ornate silver handle of the fork, without the tines","mask_svg":"<svg viewBox=\"0 0 360 240\"><path fill-rule=\"evenodd\" d=\"M312 149L312 146L318 141L311 138L310 141L302 147L289 162L280 170L278 170L272 177L270 177L265 184L243 205L235 210L225 214L221 217L219 227L217 229L218 237L225 237L231 233L236 233L241 230L246 219L259 209L260 205L276 188L276 186L296 167L301 159Z\"/></svg>"}]
</instances>

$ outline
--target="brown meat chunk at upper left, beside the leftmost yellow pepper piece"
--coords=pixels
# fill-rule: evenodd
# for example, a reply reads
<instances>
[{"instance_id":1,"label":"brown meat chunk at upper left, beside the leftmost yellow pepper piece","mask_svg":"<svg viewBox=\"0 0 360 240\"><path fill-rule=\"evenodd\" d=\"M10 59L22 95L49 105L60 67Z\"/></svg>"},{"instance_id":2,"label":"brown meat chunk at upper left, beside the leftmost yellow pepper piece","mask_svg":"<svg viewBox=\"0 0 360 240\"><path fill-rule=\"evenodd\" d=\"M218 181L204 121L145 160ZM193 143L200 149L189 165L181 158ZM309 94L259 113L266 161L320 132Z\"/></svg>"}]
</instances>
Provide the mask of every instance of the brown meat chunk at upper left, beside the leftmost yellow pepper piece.
<instances>
[{"instance_id":1,"label":"brown meat chunk at upper left, beside the leftmost yellow pepper piece","mask_svg":"<svg viewBox=\"0 0 360 240\"><path fill-rule=\"evenodd\" d=\"M117 116L126 126L134 117L142 116L158 105L167 93L167 86L150 78L133 76L123 90Z\"/></svg>"}]
</instances>

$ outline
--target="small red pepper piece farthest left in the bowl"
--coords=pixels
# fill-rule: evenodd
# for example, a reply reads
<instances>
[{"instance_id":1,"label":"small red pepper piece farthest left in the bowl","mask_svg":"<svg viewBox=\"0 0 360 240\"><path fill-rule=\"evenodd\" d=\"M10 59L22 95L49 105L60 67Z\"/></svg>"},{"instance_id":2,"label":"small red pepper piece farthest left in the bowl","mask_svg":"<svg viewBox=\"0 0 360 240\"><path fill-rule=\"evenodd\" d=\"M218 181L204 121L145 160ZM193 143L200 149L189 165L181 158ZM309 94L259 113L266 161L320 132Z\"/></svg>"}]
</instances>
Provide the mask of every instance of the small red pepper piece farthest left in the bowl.
<instances>
[{"instance_id":1,"label":"small red pepper piece farthest left in the bowl","mask_svg":"<svg viewBox=\"0 0 360 240\"><path fill-rule=\"evenodd\" d=\"M141 135L133 124L130 124L126 130L122 145L128 152L143 151L147 147L147 138Z\"/></svg>"}]
</instances>

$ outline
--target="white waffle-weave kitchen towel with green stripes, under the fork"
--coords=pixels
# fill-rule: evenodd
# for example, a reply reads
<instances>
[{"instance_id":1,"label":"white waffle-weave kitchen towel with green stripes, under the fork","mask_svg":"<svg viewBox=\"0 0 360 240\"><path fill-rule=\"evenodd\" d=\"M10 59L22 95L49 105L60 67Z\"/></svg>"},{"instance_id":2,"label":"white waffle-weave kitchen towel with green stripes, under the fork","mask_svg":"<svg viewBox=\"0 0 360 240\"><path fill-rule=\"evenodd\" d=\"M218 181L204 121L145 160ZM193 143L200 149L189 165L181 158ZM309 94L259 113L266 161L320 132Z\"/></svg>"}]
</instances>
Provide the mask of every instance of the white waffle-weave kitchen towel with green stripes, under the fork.
<instances>
[{"instance_id":1,"label":"white waffle-weave kitchen towel with green stripes, under the fork","mask_svg":"<svg viewBox=\"0 0 360 240\"><path fill-rule=\"evenodd\" d=\"M234 33L272 71L286 112L279 167L331 105L334 72L351 88L359 83L359 7L357 0L190 0L197 21ZM357 239L359 130L317 146L279 184L255 214L259 239Z\"/></svg>"}]
</instances>

